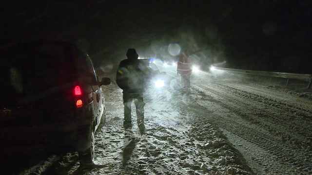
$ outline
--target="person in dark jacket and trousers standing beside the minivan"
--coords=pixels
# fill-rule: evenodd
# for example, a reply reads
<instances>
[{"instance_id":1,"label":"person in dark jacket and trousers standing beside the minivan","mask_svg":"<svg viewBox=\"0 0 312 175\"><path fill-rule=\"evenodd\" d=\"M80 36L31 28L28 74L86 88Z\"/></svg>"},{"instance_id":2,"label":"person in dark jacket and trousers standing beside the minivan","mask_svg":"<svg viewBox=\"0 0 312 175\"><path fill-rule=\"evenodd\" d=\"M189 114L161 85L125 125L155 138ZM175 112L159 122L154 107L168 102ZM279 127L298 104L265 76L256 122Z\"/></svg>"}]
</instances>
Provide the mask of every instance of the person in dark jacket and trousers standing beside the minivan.
<instances>
[{"instance_id":1,"label":"person in dark jacket and trousers standing beside the minivan","mask_svg":"<svg viewBox=\"0 0 312 175\"><path fill-rule=\"evenodd\" d=\"M144 126L144 84L147 67L138 60L135 49L128 49L127 59L119 63L116 73L116 83L123 90L124 105L124 128L132 126L131 104L134 101L137 112L137 124L140 131L145 130Z\"/></svg>"}]
</instances>

